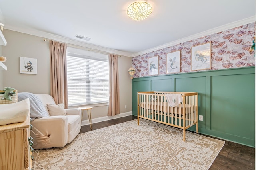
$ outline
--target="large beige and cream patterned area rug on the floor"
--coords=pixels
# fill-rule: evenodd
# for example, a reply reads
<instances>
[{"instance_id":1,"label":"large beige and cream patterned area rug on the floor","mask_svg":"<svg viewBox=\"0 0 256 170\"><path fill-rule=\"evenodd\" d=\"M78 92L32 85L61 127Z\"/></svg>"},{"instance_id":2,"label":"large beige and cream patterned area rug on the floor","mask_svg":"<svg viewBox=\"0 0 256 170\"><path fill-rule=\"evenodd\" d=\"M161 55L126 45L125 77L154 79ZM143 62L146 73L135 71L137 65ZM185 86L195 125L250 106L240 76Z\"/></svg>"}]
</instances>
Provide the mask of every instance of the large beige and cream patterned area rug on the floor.
<instances>
[{"instance_id":1,"label":"large beige and cream patterned area rug on the floor","mask_svg":"<svg viewBox=\"0 0 256 170\"><path fill-rule=\"evenodd\" d=\"M64 147L34 150L35 170L206 170L224 146L140 119L79 134Z\"/></svg>"}]
</instances>

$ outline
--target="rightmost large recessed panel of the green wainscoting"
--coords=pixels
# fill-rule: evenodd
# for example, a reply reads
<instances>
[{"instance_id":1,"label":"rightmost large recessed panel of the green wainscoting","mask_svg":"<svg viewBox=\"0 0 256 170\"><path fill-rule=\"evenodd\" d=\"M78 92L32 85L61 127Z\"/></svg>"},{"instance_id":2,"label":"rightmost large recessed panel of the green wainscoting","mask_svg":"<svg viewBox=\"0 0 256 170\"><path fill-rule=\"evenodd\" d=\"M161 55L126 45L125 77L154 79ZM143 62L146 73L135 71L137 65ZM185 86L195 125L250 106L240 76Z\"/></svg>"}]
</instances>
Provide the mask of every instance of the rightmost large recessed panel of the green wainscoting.
<instances>
[{"instance_id":1,"label":"rightmost large recessed panel of the green wainscoting","mask_svg":"<svg viewBox=\"0 0 256 170\"><path fill-rule=\"evenodd\" d=\"M255 74L212 77L211 129L254 139Z\"/></svg>"}]
</instances>

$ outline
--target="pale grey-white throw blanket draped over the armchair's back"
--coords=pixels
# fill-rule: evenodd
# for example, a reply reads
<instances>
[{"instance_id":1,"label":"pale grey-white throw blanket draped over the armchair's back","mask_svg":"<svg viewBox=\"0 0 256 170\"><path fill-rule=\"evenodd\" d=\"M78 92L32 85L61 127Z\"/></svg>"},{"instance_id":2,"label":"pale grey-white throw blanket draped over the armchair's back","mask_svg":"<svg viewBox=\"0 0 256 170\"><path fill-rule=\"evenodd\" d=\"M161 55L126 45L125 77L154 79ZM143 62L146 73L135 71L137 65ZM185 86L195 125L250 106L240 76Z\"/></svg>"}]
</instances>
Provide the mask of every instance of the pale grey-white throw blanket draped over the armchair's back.
<instances>
[{"instance_id":1,"label":"pale grey-white throw blanket draped over the armchair's back","mask_svg":"<svg viewBox=\"0 0 256 170\"><path fill-rule=\"evenodd\" d=\"M28 92L18 93L18 102L26 98L29 98L30 101L30 118L32 120L49 116L41 100L35 94Z\"/></svg>"}]
</instances>

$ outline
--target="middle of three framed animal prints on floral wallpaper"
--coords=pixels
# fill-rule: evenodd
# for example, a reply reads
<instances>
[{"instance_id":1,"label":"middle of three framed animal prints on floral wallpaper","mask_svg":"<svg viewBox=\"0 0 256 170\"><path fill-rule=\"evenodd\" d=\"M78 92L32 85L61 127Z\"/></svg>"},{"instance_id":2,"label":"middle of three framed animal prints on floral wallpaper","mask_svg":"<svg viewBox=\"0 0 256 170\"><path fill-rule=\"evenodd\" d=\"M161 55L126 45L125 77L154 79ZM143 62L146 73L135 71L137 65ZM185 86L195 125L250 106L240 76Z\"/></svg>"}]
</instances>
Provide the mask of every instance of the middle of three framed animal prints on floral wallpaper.
<instances>
[{"instance_id":1,"label":"middle of three framed animal prints on floral wallpaper","mask_svg":"<svg viewBox=\"0 0 256 170\"><path fill-rule=\"evenodd\" d=\"M166 55L166 73L179 73L180 72L180 50L167 53Z\"/></svg>"}]
</instances>

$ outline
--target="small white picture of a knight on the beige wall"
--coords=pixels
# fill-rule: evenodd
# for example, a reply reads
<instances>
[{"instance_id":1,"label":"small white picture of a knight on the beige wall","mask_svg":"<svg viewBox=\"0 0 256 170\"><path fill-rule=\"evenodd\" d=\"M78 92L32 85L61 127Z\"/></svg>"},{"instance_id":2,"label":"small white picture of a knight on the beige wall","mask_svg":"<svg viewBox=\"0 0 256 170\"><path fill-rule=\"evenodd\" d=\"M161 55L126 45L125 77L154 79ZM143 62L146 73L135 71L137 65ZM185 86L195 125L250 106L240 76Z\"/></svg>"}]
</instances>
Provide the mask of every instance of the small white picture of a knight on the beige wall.
<instances>
[{"instance_id":1,"label":"small white picture of a knight on the beige wall","mask_svg":"<svg viewBox=\"0 0 256 170\"><path fill-rule=\"evenodd\" d=\"M21 74L37 74L37 59L20 57Z\"/></svg>"}]
</instances>

